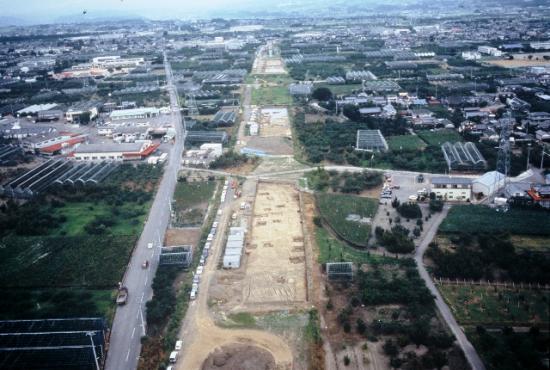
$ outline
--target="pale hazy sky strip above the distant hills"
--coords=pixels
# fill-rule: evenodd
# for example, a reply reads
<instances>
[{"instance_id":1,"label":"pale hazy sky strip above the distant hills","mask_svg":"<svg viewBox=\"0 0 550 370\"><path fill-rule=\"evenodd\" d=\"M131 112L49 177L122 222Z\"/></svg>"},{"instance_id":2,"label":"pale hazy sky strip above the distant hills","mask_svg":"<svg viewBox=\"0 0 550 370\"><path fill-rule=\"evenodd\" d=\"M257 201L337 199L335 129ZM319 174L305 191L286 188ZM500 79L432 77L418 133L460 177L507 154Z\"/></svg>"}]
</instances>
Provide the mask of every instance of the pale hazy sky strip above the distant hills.
<instances>
[{"instance_id":1,"label":"pale hazy sky strip above the distant hills","mask_svg":"<svg viewBox=\"0 0 550 370\"><path fill-rule=\"evenodd\" d=\"M151 19L196 18L208 16L213 10L236 8L260 8L281 3L274 0L0 0L2 16L17 18L41 18L53 21L58 17L81 14L90 17L107 14L143 16ZM34 22L40 23L36 19ZM33 22L33 23L34 23Z\"/></svg>"}]
</instances>

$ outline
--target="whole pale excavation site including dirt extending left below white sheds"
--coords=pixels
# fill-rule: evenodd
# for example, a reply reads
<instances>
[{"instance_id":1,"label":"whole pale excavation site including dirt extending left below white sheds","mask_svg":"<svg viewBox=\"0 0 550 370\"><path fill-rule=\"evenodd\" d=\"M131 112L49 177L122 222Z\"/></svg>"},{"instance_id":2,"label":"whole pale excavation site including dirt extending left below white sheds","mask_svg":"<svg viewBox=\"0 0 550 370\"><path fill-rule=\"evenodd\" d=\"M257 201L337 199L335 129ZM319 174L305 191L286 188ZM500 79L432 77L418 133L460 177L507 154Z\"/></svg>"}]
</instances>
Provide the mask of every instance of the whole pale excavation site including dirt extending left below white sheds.
<instances>
[{"instance_id":1,"label":"whole pale excavation site including dirt extending left below white sheds","mask_svg":"<svg viewBox=\"0 0 550 370\"><path fill-rule=\"evenodd\" d=\"M255 195L254 195L255 193ZM306 302L306 266L299 194L293 185L245 183L249 225L241 268L218 271L212 298L224 311L292 309Z\"/></svg>"}]
</instances>

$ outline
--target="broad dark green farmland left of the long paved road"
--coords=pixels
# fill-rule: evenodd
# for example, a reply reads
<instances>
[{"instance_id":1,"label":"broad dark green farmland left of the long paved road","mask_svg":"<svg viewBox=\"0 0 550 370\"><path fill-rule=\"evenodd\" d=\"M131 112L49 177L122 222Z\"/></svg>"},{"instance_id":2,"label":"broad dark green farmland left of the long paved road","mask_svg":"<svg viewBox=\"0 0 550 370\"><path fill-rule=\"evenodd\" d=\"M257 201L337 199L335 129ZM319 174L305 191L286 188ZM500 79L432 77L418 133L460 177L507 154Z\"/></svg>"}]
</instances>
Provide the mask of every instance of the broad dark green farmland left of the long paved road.
<instances>
[{"instance_id":1,"label":"broad dark green farmland left of the long paved road","mask_svg":"<svg viewBox=\"0 0 550 370\"><path fill-rule=\"evenodd\" d=\"M8 203L0 211L0 283L12 308L0 317L110 320L160 175L123 164L101 184L52 187L26 204Z\"/></svg>"}]
</instances>

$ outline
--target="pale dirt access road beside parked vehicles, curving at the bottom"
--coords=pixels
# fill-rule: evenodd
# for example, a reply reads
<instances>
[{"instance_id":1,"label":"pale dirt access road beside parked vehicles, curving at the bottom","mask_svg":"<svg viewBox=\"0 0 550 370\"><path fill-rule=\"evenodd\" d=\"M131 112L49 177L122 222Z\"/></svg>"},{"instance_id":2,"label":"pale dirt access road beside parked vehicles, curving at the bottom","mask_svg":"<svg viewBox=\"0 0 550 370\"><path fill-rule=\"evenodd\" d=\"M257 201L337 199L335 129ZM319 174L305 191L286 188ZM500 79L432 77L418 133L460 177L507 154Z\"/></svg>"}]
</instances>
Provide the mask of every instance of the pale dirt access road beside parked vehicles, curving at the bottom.
<instances>
[{"instance_id":1,"label":"pale dirt access road beside parked vehicles, curving at the bottom","mask_svg":"<svg viewBox=\"0 0 550 370\"><path fill-rule=\"evenodd\" d=\"M231 344L256 346L268 351L274 358L276 369L292 369L292 351L280 337L259 330L223 329L214 323L208 308L208 288L212 276L216 273L216 265L223 250L223 235L226 232L229 218L238 201L232 201L233 192L228 191L227 200L220 209L222 216L220 226L212 244L212 255L208 258L202 274L200 291L197 300L193 301L180 331L184 347L180 360L176 364L178 370L201 369L204 361L216 348Z\"/></svg>"}]
</instances>

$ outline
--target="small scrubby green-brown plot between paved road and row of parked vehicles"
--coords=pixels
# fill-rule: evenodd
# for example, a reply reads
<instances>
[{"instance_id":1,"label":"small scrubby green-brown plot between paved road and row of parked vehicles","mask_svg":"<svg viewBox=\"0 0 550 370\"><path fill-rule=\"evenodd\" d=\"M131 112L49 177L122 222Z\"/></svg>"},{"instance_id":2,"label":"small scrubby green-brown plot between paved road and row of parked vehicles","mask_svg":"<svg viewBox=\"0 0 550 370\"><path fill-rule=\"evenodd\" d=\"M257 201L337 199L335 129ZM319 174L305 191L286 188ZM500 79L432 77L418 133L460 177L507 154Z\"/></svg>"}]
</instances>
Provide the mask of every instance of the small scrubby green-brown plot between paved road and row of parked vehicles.
<instances>
[{"instance_id":1,"label":"small scrubby green-brown plot between paved road and row of parked vehicles","mask_svg":"<svg viewBox=\"0 0 550 370\"><path fill-rule=\"evenodd\" d=\"M215 189L216 181L179 181L174 193L174 223L179 227L201 225Z\"/></svg>"}]
</instances>

